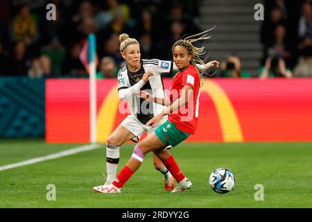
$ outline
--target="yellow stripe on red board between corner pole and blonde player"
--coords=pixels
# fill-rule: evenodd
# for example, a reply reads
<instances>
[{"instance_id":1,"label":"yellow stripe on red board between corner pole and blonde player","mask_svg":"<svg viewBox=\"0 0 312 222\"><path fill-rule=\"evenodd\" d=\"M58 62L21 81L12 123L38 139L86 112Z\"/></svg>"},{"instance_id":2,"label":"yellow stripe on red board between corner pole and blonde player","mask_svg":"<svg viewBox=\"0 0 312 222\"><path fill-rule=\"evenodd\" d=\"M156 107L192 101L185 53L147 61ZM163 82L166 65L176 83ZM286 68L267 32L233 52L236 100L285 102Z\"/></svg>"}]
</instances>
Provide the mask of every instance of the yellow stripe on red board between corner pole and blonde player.
<instances>
[{"instance_id":1,"label":"yellow stripe on red board between corner pole and blonde player","mask_svg":"<svg viewBox=\"0 0 312 222\"><path fill-rule=\"evenodd\" d=\"M96 123L96 142L104 143L107 137L114 130L114 122L119 106L118 86L112 87L101 108L98 112L98 121Z\"/></svg>"}]
</instances>

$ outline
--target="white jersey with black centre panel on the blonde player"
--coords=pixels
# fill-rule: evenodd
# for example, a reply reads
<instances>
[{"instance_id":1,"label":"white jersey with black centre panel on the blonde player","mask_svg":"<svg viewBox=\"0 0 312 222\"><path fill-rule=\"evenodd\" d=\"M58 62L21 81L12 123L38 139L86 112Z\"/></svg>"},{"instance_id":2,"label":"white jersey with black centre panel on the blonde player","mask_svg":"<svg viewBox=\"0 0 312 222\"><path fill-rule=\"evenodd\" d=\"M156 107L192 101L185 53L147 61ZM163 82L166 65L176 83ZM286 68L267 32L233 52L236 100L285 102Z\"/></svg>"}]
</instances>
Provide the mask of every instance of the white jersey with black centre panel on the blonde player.
<instances>
[{"instance_id":1,"label":"white jersey with black centre panel on the blonde player","mask_svg":"<svg viewBox=\"0 0 312 222\"><path fill-rule=\"evenodd\" d=\"M170 73L172 69L173 62L153 59L141 60L141 68L136 72L130 71L127 66L119 70L119 97L127 100L131 114L134 114L141 123L146 124L154 117L154 114L162 112L166 107L152 101L144 101L136 96L136 92L146 90L154 97L166 98L160 74ZM144 84L141 78L146 71L150 71L154 75L150 76L148 82Z\"/></svg>"}]
</instances>

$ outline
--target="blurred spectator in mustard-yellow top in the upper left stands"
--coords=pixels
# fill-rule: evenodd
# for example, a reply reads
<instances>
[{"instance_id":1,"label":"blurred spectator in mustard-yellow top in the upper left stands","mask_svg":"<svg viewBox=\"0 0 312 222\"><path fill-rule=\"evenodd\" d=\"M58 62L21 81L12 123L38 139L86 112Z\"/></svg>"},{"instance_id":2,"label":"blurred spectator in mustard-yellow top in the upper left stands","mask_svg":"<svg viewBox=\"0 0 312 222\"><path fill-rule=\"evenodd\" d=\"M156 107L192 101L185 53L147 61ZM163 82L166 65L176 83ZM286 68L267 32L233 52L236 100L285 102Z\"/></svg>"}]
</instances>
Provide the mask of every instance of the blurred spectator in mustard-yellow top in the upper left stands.
<instances>
[{"instance_id":1,"label":"blurred spectator in mustard-yellow top in the upper left stands","mask_svg":"<svg viewBox=\"0 0 312 222\"><path fill-rule=\"evenodd\" d=\"M37 17L31 15L29 6L21 6L19 14L15 16L10 28L10 37L12 41L21 41L25 37L32 44L39 37L39 30L37 28Z\"/></svg>"}]
</instances>

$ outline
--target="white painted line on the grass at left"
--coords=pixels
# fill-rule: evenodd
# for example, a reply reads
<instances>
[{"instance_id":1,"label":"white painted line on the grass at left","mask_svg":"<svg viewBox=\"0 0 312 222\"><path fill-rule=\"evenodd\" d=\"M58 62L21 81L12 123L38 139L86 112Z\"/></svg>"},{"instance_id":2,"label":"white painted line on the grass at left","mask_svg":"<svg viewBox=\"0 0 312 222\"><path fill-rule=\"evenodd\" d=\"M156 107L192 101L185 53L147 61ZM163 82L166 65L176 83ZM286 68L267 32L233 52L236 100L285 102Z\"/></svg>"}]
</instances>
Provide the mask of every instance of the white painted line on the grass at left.
<instances>
[{"instance_id":1,"label":"white painted line on the grass at left","mask_svg":"<svg viewBox=\"0 0 312 222\"><path fill-rule=\"evenodd\" d=\"M67 151L62 151L60 153L53 153L53 154L50 154L50 155L45 155L43 157L36 157L36 158L30 159L30 160L17 162L15 164L8 164L8 165L0 167L0 171L5 171L6 169L12 169L12 168L15 168L15 167L23 167L23 166L26 166L26 165L35 164L37 162L43 162L43 161L46 161L46 160L53 160L53 159L57 159L57 158L64 157L64 156L67 156L67 155L73 155L73 154L80 153L80 152L92 151L92 150L94 150L96 148L99 148L100 146L101 145L99 145L99 144L78 146L76 148L71 148L71 149L69 149Z\"/></svg>"}]
</instances>

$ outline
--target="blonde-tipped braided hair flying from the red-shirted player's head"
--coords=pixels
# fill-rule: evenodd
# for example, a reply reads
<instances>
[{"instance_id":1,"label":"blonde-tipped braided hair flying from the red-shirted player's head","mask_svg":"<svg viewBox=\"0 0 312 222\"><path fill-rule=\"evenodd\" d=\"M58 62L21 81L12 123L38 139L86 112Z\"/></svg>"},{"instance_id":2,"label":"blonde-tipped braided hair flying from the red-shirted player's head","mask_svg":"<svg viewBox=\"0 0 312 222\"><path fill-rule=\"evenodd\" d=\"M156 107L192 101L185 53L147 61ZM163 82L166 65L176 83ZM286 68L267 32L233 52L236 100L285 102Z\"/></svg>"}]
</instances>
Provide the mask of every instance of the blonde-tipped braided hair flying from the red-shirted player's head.
<instances>
[{"instance_id":1,"label":"blonde-tipped braided hair flying from the red-shirted player's head","mask_svg":"<svg viewBox=\"0 0 312 222\"><path fill-rule=\"evenodd\" d=\"M216 26L214 26L215 28ZM175 48L175 46L184 46L185 49L189 52L189 55L191 55L191 65L196 65L196 63L199 63L200 65L205 65L205 60L202 60L200 56L205 54L205 46L202 44L201 47L196 47L193 45L193 42L198 42L199 40L208 40L210 36L207 35L207 32L213 30L214 28L211 28L207 31L203 31L202 33L198 33L196 35L191 35L189 37L184 38L183 40L177 40L173 46L172 51ZM202 79L203 74L205 72L205 69L198 70L200 74L200 86L202 86Z\"/></svg>"}]
</instances>

